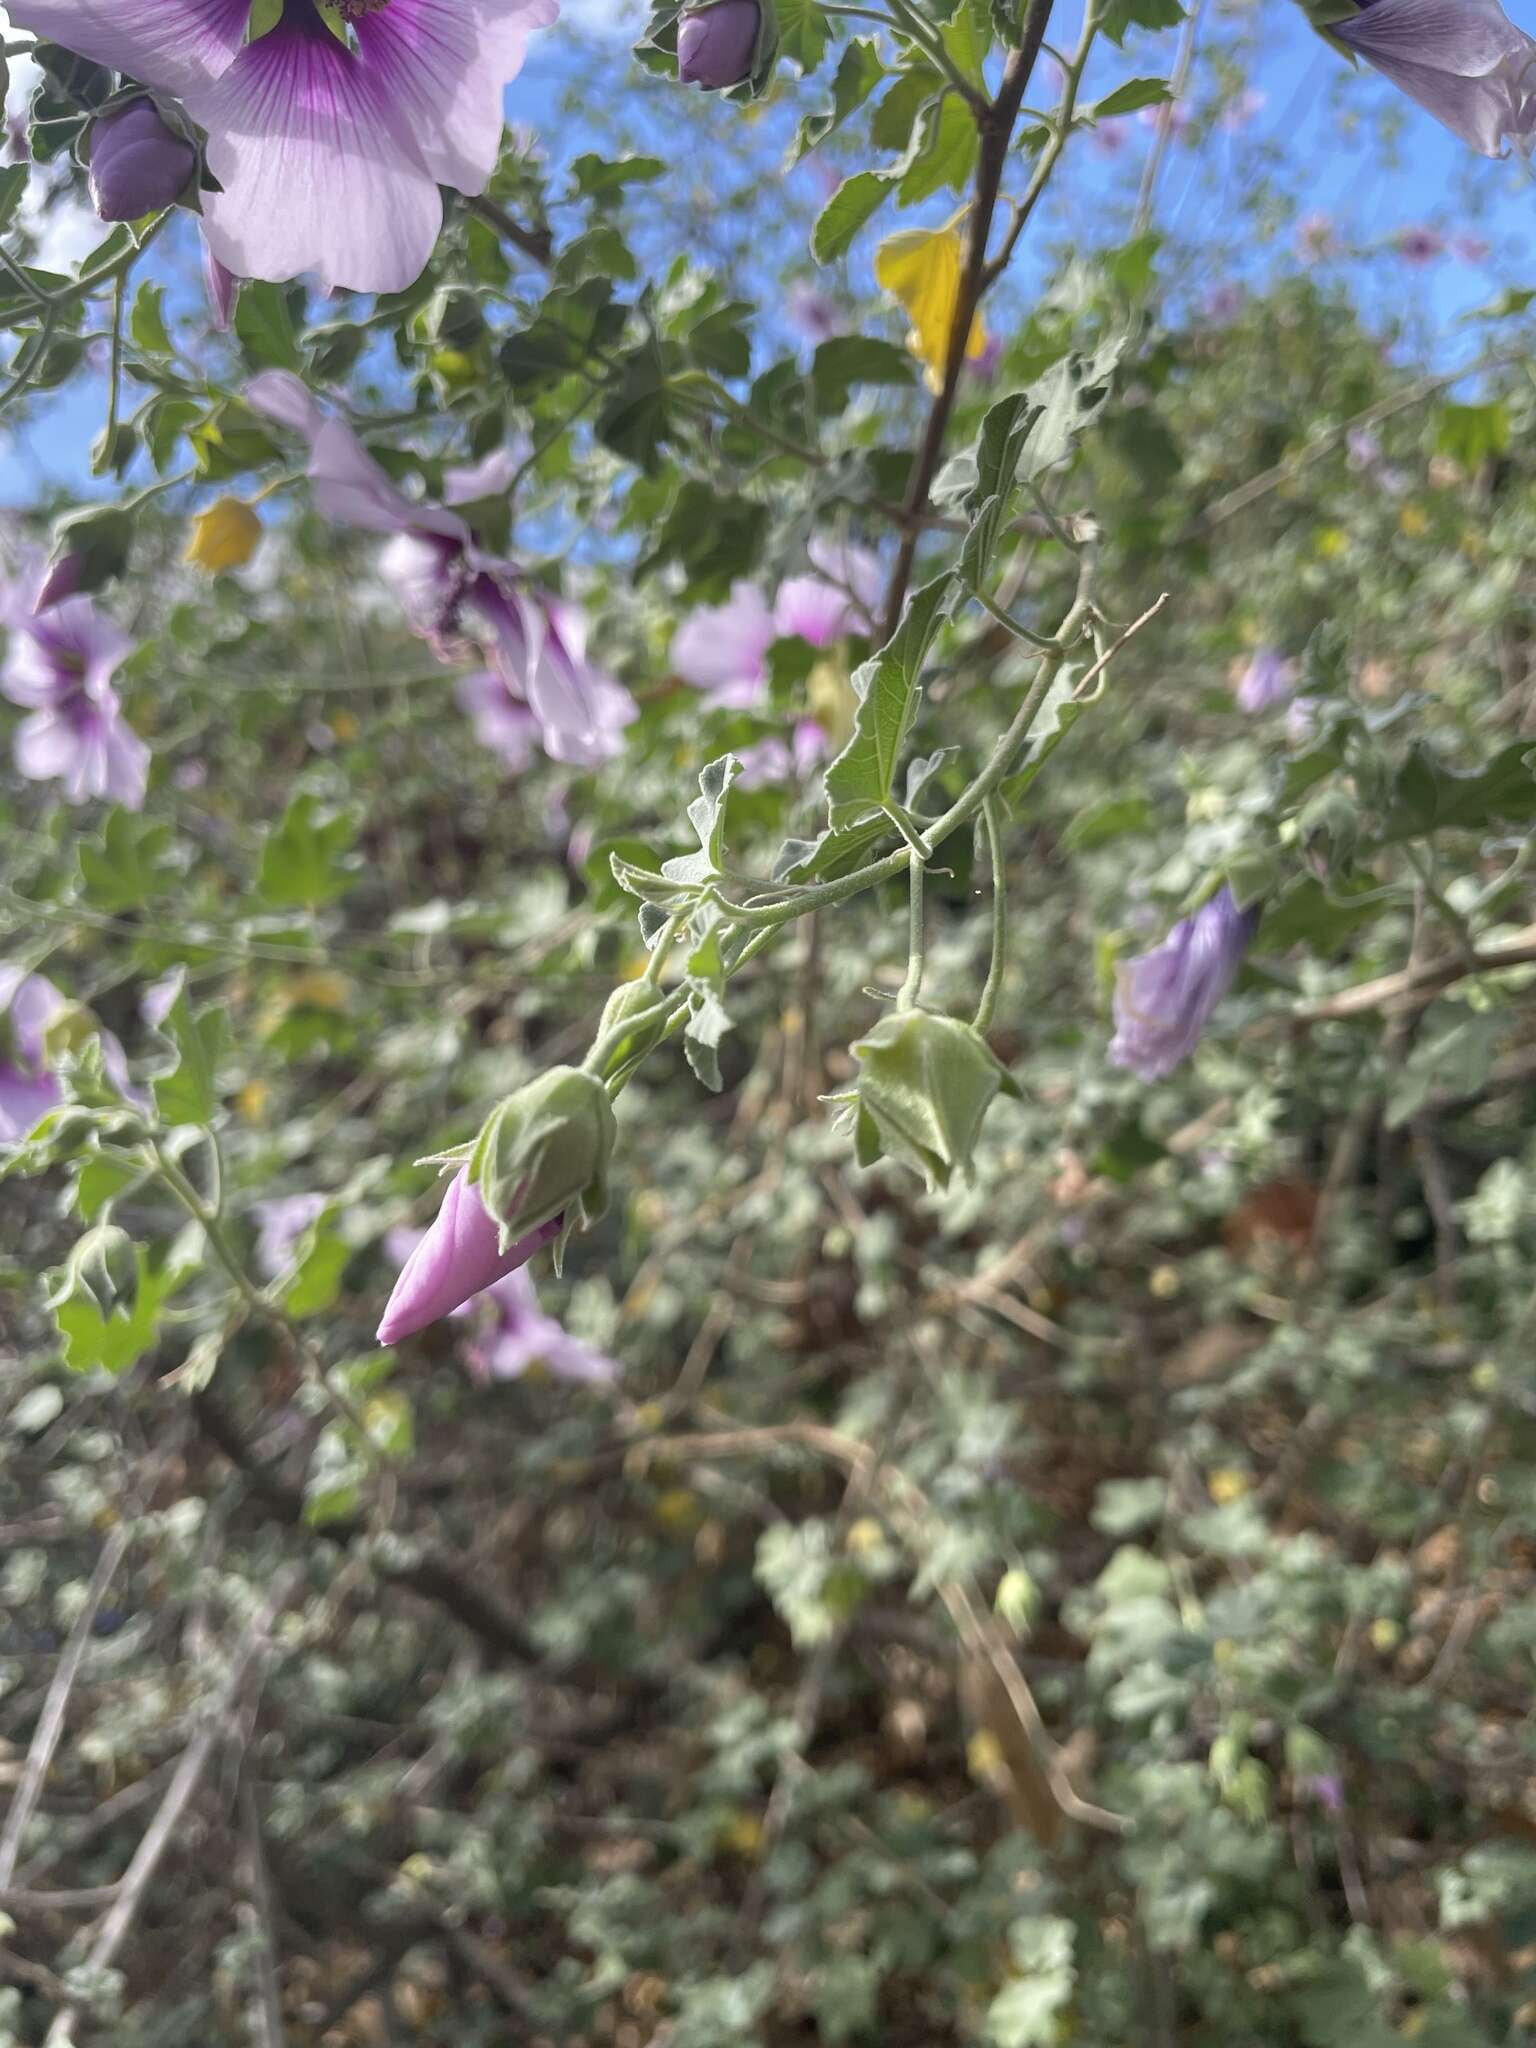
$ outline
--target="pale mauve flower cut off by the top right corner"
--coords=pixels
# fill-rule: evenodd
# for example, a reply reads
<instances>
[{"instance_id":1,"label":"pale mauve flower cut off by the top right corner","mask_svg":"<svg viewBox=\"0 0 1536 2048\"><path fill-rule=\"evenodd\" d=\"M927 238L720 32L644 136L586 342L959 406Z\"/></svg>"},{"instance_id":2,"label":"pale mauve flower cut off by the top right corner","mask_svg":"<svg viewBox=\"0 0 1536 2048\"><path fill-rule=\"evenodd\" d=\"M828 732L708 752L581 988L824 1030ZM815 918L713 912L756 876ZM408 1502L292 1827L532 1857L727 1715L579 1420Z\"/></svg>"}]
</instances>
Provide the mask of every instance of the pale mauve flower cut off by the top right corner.
<instances>
[{"instance_id":1,"label":"pale mauve flower cut off by the top right corner","mask_svg":"<svg viewBox=\"0 0 1536 2048\"><path fill-rule=\"evenodd\" d=\"M1530 143L1536 43L1497 0L1372 0L1331 29L1468 147Z\"/></svg>"}]
</instances>

